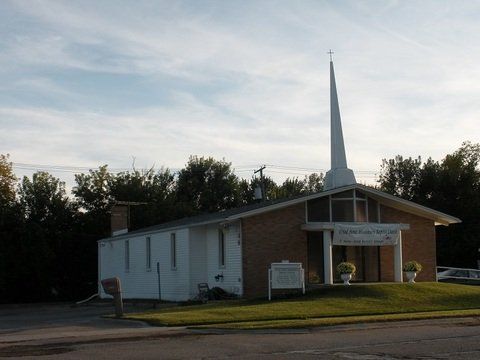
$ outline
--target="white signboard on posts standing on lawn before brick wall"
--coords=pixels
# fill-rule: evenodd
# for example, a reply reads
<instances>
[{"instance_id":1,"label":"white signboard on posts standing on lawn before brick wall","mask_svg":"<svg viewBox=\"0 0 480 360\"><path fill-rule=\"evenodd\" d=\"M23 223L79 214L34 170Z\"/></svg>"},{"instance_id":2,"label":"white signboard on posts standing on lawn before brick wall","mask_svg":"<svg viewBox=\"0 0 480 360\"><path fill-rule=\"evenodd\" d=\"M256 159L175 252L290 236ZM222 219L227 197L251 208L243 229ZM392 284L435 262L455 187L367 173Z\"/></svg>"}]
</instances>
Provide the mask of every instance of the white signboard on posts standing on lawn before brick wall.
<instances>
[{"instance_id":1,"label":"white signboard on posts standing on lawn before brick wall","mask_svg":"<svg viewBox=\"0 0 480 360\"><path fill-rule=\"evenodd\" d=\"M302 263L272 263L268 270L268 300L272 299L272 289L302 289L305 294Z\"/></svg>"}]
</instances>

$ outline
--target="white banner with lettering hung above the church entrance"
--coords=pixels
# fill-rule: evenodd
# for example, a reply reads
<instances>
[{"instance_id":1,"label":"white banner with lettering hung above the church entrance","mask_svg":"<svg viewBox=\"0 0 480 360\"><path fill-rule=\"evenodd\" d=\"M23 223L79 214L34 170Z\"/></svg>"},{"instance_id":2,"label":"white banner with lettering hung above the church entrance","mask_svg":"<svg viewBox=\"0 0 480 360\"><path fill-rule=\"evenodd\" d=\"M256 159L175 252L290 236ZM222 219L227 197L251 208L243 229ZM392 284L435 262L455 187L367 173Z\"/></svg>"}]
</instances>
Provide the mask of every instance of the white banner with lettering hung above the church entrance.
<instances>
[{"instance_id":1,"label":"white banner with lettering hung above the church entrance","mask_svg":"<svg viewBox=\"0 0 480 360\"><path fill-rule=\"evenodd\" d=\"M399 238L399 224L335 224L332 243L344 246L396 245Z\"/></svg>"}]
</instances>

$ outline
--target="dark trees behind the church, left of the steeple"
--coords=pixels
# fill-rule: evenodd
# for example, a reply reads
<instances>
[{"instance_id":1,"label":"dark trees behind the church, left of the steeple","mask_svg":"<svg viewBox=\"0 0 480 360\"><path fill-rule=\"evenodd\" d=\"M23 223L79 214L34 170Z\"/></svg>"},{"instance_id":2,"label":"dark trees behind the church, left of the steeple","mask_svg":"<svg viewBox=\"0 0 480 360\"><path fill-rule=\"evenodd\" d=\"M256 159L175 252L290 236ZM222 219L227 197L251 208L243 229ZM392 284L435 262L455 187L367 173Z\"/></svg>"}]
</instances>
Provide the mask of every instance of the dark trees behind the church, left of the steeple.
<instances>
[{"instance_id":1,"label":"dark trees behind the church, left of the steeple","mask_svg":"<svg viewBox=\"0 0 480 360\"><path fill-rule=\"evenodd\" d=\"M276 199L320 191L321 174L264 178ZM110 236L117 201L131 210L135 230L182 217L248 205L259 178L240 179L225 160L192 156L174 174L167 168L112 173L104 165L76 174L71 194L48 172L18 179L0 155L0 302L81 299L96 292L97 243Z\"/></svg>"}]
</instances>

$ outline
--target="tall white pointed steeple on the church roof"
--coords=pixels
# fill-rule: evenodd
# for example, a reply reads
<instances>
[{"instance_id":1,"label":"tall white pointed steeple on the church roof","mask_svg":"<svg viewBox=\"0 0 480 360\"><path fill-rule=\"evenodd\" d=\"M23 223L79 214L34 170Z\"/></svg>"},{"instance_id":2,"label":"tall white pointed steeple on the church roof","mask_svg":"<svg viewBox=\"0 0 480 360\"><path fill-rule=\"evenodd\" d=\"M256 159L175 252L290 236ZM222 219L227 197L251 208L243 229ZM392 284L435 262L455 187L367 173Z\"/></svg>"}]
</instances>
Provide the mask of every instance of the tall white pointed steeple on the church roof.
<instances>
[{"instance_id":1,"label":"tall white pointed steeple on the church roof","mask_svg":"<svg viewBox=\"0 0 480 360\"><path fill-rule=\"evenodd\" d=\"M325 174L324 190L356 184L353 171L347 167L345 144L343 142L342 121L338 106L335 72L333 71L332 51L330 54L330 170Z\"/></svg>"}]
</instances>

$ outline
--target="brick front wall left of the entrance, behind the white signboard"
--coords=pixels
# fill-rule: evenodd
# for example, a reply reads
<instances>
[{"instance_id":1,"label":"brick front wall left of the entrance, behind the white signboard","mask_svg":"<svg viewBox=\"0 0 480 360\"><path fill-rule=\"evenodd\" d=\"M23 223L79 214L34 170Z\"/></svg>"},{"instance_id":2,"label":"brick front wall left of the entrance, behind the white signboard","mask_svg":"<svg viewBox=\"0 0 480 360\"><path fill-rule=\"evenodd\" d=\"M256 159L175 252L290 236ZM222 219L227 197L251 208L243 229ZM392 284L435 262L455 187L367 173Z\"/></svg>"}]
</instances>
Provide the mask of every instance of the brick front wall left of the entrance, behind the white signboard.
<instances>
[{"instance_id":1,"label":"brick front wall left of the entrance, behind the white signboard","mask_svg":"<svg viewBox=\"0 0 480 360\"><path fill-rule=\"evenodd\" d=\"M242 219L243 287L245 297L268 295L268 268L289 260L307 266L305 204Z\"/></svg>"}]
</instances>

